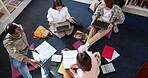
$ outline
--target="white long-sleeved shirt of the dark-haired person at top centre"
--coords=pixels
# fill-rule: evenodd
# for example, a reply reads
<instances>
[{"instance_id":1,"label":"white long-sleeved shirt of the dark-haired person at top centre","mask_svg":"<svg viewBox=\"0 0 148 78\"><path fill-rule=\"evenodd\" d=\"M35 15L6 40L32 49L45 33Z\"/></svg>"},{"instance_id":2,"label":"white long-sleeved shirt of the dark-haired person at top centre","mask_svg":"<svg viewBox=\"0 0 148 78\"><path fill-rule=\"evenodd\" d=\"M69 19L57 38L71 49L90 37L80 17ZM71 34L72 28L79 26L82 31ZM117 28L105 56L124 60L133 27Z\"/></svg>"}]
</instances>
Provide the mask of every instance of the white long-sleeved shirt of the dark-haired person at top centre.
<instances>
[{"instance_id":1,"label":"white long-sleeved shirt of the dark-haired person at top centre","mask_svg":"<svg viewBox=\"0 0 148 78\"><path fill-rule=\"evenodd\" d=\"M64 22L66 19L70 17L67 7L63 7L60 11L49 8L47 14L47 20L49 22L53 21L53 23Z\"/></svg>"}]
</instances>

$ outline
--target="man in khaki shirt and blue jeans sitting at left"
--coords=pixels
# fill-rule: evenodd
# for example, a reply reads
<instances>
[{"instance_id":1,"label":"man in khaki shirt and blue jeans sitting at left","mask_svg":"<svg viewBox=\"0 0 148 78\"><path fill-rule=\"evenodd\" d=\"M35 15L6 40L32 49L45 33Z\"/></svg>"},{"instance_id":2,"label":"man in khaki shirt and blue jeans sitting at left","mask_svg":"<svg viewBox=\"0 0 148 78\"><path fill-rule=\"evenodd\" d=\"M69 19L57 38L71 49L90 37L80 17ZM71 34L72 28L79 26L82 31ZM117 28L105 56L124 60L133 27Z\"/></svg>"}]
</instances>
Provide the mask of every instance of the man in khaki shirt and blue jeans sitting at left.
<instances>
[{"instance_id":1,"label":"man in khaki shirt and blue jeans sitting at left","mask_svg":"<svg viewBox=\"0 0 148 78\"><path fill-rule=\"evenodd\" d=\"M26 35L21 25L10 23L5 27L8 33L3 40L4 47L10 55L11 64L19 70L24 78L32 78L27 63L34 67L41 67L42 78L49 78L46 59L34 52L28 44Z\"/></svg>"}]
</instances>

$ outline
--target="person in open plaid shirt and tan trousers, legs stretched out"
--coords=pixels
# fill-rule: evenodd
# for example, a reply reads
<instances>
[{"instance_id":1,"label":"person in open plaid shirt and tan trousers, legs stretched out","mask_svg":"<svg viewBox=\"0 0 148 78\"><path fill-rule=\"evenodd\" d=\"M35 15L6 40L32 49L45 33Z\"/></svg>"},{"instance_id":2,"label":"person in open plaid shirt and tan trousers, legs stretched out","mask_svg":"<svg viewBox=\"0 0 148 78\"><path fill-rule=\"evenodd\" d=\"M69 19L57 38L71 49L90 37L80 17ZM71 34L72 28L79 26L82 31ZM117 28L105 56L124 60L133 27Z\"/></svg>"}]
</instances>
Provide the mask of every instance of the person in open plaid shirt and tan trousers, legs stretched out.
<instances>
[{"instance_id":1,"label":"person in open plaid shirt and tan trousers, legs stretched out","mask_svg":"<svg viewBox=\"0 0 148 78\"><path fill-rule=\"evenodd\" d=\"M101 0L102 3L97 7L94 15L92 16L92 23L95 19L108 22L110 25L106 30L101 30L95 27L89 32L89 36L85 45L82 45L78 50L86 51L91 45L93 45L100 38L105 36L113 27L114 32L119 32L117 24L121 24L125 20L125 16L121 8L114 4L114 0Z\"/></svg>"}]
</instances>

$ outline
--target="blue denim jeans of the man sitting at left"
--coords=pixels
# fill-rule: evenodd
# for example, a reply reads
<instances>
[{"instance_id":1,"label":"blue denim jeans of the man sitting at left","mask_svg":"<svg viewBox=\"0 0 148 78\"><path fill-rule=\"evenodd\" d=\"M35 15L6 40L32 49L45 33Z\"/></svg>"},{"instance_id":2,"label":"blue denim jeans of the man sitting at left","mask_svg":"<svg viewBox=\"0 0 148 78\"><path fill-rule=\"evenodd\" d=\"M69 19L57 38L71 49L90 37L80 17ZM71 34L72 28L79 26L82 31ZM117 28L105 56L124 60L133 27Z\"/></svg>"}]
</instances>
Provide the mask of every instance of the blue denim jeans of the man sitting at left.
<instances>
[{"instance_id":1,"label":"blue denim jeans of the man sitting at left","mask_svg":"<svg viewBox=\"0 0 148 78\"><path fill-rule=\"evenodd\" d=\"M42 56L34 51L28 51L27 57L34 59L36 61L39 61L41 64L43 64L41 66L42 78L49 78L49 71L48 71L49 65L47 63L45 63L46 59L44 58L44 56ZM17 68L19 70L19 72L23 75L24 78L32 78L32 76L28 70L27 63L20 62L14 58L11 58L10 62L15 68Z\"/></svg>"}]
</instances>

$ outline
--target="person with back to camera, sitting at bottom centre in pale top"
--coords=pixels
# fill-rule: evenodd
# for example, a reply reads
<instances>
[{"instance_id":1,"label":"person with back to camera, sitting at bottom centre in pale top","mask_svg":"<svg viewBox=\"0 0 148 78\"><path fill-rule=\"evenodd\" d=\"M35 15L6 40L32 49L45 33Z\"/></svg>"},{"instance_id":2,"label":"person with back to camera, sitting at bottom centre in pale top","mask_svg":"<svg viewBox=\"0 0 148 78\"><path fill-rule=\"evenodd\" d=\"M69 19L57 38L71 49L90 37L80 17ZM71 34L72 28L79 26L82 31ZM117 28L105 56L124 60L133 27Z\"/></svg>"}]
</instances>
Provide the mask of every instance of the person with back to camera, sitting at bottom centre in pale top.
<instances>
[{"instance_id":1,"label":"person with back to camera, sitting at bottom centre in pale top","mask_svg":"<svg viewBox=\"0 0 148 78\"><path fill-rule=\"evenodd\" d=\"M79 52L76 56L76 64L72 64L69 70L64 70L64 78L97 78L100 73L100 64L99 52L94 54L85 51Z\"/></svg>"}]
</instances>

